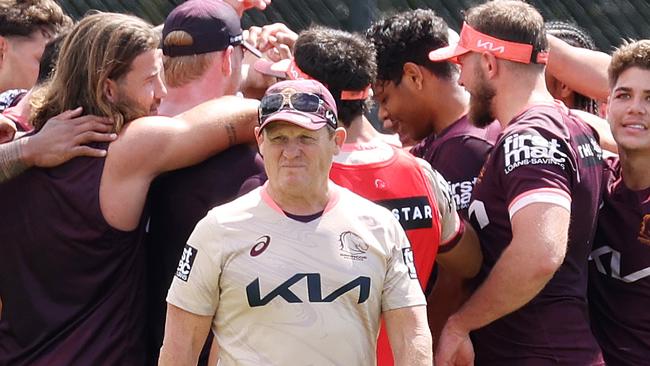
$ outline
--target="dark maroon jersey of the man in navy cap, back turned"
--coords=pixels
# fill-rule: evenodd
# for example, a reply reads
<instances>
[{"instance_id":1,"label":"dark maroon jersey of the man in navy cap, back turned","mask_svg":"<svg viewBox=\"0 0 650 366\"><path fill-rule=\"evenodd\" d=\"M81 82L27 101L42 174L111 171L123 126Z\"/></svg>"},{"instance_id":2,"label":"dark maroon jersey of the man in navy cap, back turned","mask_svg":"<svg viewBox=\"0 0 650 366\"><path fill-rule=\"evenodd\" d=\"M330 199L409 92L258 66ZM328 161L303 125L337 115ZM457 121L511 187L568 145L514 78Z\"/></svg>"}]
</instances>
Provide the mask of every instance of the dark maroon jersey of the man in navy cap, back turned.
<instances>
[{"instance_id":1,"label":"dark maroon jersey of the man in navy cap, back turned","mask_svg":"<svg viewBox=\"0 0 650 366\"><path fill-rule=\"evenodd\" d=\"M165 298L187 238L210 209L247 193L240 192L242 184L262 171L264 166L257 152L247 145L237 145L202 163L160 176L152 184L146 241L148 364L158 363L165 329ZM249 184L245 189L255 187ZM203 358L207 363L207 357Z\"/></svg>"}]
</instances>

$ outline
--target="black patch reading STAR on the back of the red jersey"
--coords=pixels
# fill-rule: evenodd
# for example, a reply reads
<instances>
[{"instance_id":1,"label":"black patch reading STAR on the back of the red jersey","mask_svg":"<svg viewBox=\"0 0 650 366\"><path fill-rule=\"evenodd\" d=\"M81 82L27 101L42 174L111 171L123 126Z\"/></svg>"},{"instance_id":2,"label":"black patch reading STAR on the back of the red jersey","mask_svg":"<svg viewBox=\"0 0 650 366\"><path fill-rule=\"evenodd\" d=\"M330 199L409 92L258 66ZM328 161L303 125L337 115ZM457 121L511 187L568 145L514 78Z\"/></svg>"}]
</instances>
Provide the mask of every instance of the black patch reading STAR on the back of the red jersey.
<instances>
[{"instance_id":1,"label":"black patch reading STAR on the back of the red jersey","mask_svg":"<svg viewBox=\"0 0 650 366\"><path fill-rule=\"evenodd\" d=\"M431 203L426 196L398 198L376 203L389 209L404 230L426 229L433 224Z\"/></svg>"}]
</instances>

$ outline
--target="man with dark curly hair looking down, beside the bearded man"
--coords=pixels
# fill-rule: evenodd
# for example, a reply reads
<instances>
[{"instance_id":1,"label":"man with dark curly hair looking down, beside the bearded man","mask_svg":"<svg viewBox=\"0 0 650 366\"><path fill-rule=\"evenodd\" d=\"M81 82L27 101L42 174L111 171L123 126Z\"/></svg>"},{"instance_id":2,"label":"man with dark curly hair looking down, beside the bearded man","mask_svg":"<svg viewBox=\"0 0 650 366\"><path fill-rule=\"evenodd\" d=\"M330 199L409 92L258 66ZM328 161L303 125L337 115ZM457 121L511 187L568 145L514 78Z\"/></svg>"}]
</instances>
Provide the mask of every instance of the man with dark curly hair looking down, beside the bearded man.
<instances>
[{"instance_id":1,"label":"man with dark curly hair looking down, beside the bearded man","mask_svg":"<svg viewBox=\"0 0 650 366\"><path fill-rule=\"evenodd\" d=\"M366 36L377 50L375 100L385 127L422 140L412 150L428 161L451 186L461 215L467 218L472 188L498 124L488 129L467 119L469 98L457 83L451 62L432 62L431 50L447 46L450 31L432 10L412 10L374 23ZM452 157L462 156L462 162Z\"/></svg>"}]
</instances>

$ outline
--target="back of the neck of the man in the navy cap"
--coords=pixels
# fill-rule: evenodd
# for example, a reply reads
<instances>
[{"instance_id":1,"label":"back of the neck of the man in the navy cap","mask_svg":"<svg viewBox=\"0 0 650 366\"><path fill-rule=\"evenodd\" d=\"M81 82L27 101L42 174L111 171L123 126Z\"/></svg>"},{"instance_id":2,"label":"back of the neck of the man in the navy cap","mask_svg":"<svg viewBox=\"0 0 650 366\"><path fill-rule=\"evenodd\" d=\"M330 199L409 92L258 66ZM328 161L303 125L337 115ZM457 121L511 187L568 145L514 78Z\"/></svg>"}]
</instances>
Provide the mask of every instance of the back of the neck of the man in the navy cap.
<instances>
[{"instance_id":1,"label":"back of the neck of the man in the navy cap","mask_svg":"<svg viewBox=\"0 0 650 366\"><path fill-rule=\"evenodd\" d=\"M176 88L170 87L158 108L158 114L176 116L205 101L227 95L225 89L223 83L215 83L209 78L201 78Z\"/></svg>"}]
</instances>

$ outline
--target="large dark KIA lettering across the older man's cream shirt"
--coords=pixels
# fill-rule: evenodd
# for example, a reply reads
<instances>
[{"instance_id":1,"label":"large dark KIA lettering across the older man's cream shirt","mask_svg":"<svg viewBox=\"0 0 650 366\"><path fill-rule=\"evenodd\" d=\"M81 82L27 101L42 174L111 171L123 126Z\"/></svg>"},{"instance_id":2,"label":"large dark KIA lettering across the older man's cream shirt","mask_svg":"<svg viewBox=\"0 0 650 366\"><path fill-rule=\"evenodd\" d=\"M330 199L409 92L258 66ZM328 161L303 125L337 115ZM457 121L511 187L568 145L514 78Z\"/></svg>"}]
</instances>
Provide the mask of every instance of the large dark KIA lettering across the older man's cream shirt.
<instances>
[{"instance_id":1,"label":"large dark KIA lettering across the older man's cream shirt","mask_svg":"<svg viewBox=\"0 0 650 366\"><path fill-rule=\"evenodd\" d=\"M370 277L359 276L323 298L320 273L296 273L291 276L291 278L281 283L280 286L271 290L271 292L266 294L264 297L262 297L260 292L260 279L259 277L256 278L255 281L246 286L248 305L252 308L264 306L278 296L288 303L302 303L303 300L291 291L291 286L303 278L307 278L307 296L309 302L333 302L345 293L354 290L356 287L359 288L358 304L366 302L368 297L370 297Z\"/></svg>"}]
</instances>

